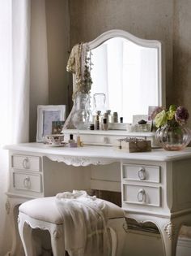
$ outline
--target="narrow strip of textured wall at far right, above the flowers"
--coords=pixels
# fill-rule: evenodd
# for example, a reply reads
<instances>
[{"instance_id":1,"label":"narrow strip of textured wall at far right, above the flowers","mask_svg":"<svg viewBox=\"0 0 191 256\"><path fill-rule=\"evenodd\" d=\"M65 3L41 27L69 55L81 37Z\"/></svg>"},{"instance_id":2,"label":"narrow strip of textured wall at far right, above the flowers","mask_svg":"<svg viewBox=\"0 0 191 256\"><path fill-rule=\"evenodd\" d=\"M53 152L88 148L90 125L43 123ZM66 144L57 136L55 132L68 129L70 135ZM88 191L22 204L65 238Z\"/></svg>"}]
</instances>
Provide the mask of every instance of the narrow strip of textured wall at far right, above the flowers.
<instances>
[{"instance_id":1,"label":"narrow strip of textured wall at far right, above the flowers","mask_svg":"<svg viewBox=\"0 0 191 256\"><path fill-rule=\"evenodd\" d=\"M189 108L191 128L191 1L175 0L173 37L173 99Z\"/></svg>"}]
</instances>

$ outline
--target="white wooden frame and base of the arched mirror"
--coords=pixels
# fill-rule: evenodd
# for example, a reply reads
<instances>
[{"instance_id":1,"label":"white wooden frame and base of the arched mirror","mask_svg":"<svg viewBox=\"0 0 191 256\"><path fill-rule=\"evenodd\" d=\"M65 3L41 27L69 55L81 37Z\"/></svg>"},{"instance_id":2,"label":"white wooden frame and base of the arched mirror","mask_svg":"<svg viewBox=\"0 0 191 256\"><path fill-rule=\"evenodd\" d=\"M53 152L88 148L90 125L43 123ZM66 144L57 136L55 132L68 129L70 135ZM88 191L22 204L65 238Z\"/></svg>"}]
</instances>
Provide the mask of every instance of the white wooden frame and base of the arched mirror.
<instances>
[{"instance_id":1,"label":"white wooden frame and base of the arched mirror","mask_svg":"<svg viewBox=\"0 0 191 256\"><path fill-rule=\"evenodd\" d=\"M157 61L158 61L158 102L159 102L159 106L165 106L166 105L166 95L165 95L165 58L164 58L164 47L163 47L163 43L161 41L157 41L157 40L146 40L146 39L142 39L142 38L138 38L135 37L134 35L125 32L124 30L120 30L120 29L112 29L109 30L105 33L102 33L99 37L96 37L95 40L90 41L87 43L87 47L89 50L92 50L98 46L100 46L104 41L107 41L108 39L111 39L113 37L122 37L125 38L133 43L135 43L138 46L142 46L142 47L149 47L149 48L155 48L157 50ZM73 75L73 88L75 85L75 75ZM66 133L76 133L75 130L65 130ZM92 143L96 143L96 144L102 144L102 142L104 144L110 144L110 140L107 139L108 137L105 136L125 136L128 135L129 132L127 131L89 131L89 130L84 130L84 131L80 131L81 134L84 134L87 136L91 137L91 140L87 140L87 143L91 143L90 141L92 141ZM136 136L136 137L151 137L151 132L144 132L144 135L142 134L138 134L138 132L134 132L135 134L130 134L131 136ZM96 137L92 137L92 135L96 135ZM102 137L104 137L104 141L102 141L100 143L100 141L97 141L97 135L101 135ZM153 135L152 135L153 137ZM107 141L107 142L105 142Z\"/></svg>"}]
</instances>

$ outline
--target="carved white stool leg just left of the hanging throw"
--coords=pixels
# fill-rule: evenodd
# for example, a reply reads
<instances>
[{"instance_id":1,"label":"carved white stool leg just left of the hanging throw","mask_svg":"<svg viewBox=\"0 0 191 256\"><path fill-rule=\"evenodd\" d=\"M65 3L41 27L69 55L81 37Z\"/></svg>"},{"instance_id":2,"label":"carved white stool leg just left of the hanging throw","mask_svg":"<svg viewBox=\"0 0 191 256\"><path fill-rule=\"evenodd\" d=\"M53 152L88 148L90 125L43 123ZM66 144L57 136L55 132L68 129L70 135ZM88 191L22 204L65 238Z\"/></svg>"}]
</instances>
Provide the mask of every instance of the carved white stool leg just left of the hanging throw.
<instances>
[{"instance_id":1,"label":"carved white stool leg just left of the hanging throw","mask_svg":"<svg viewBox=\"0 0 191 256\"><path fill-rule=\"evenodd\" d=\"M53 256L65 255L66 252L65 252L63 225L52 224L49 232L51 237Z\"/></svg>"}]
</instances>

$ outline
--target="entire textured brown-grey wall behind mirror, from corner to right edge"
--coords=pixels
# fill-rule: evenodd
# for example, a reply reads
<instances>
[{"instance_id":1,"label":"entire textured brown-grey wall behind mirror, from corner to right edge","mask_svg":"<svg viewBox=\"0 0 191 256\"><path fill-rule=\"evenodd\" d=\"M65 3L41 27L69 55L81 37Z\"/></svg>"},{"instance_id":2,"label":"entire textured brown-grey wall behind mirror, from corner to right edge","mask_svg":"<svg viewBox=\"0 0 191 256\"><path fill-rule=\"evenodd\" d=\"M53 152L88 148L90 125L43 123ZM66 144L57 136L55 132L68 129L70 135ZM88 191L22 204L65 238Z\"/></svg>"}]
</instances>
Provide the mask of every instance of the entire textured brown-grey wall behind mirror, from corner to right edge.
<instances>
[{"instance_id":1,"label":"entire textured brown-grey wall behind mirror, from corner to right edge","mask_svg":"<svg viewBox=\"0 0 191 256\"><path fill-rule=\"evenodd\" d=\"M163 41L167 105L185 105L191 113L190 0L71 0L69 4L70 47L113 28Z\"/></svg>"}]
</instances>

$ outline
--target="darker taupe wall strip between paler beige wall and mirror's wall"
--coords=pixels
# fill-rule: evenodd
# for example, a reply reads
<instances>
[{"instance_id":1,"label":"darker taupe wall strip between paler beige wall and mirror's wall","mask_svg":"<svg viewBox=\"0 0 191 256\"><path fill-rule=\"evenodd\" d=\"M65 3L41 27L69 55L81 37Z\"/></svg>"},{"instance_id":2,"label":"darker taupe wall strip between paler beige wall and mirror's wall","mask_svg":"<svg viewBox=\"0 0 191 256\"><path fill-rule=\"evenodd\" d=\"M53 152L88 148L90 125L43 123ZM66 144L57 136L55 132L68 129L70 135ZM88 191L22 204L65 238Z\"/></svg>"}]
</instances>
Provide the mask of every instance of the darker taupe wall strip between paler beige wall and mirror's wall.
<instances>
[{"instance_id":1,"label":"darker taupe wall strip between paler beige wall and mirror's wall","mask_svg":"<svg viewBox=\"0 0 191 256\"><path fill-rule=\"evenodd\" d=\"M49 104L67 104L66 63L69 50L69 11L67 0L46 0L49 63Z\"/></svg>"}]
</instances>

